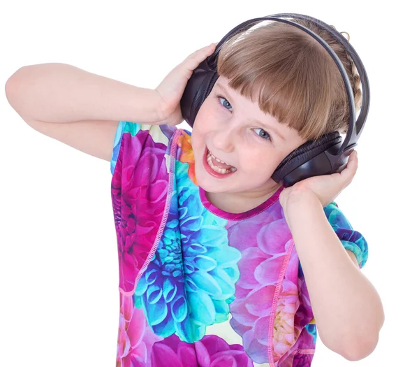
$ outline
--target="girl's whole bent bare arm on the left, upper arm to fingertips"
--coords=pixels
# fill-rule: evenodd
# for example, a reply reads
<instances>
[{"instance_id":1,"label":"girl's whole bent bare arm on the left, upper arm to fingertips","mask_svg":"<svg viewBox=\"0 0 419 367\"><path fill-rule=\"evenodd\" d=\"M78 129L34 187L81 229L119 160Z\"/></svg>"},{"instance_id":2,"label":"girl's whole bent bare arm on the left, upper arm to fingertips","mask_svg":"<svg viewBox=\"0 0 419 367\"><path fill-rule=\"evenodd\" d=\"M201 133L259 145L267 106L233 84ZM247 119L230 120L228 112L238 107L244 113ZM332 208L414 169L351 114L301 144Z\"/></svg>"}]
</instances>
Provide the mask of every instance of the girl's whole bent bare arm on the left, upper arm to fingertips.
<instances>
[{"instance_id":1,"label":"girl's whole bent bare arm on the left, upper arm to fingertips","mask_svg":"<svg viewBox=\"0 0 419 367\"><path fill-rule=\"evenodd\" d=\"M176 125L192 71L214 44L189 55L156 89L135 87L68 64L23 66L8 78L10 106L36 131L110 161L120 121Z\"/></svg>"}]
</instances>

